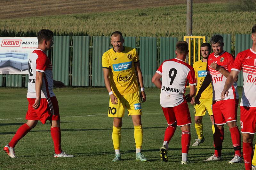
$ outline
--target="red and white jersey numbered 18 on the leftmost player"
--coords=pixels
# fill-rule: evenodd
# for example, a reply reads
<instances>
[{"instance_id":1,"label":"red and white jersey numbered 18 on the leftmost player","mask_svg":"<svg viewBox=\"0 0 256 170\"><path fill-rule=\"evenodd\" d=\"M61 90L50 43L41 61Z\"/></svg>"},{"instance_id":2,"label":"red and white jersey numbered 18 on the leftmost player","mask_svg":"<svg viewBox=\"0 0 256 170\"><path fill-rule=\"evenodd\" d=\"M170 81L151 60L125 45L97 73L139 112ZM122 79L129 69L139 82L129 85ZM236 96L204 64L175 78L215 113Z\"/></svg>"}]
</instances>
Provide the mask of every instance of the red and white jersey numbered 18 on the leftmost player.
<instances>
[{"instance_id":1,"label":"red and white jersey numbered 18 on the leftmost player","mask_svg":"<svg viewBox=\"0 0 256 170\"><path fill-rule=\"evenodd\" d=\"M36 71L44 72L41 98L55 96L53 93L52 63L43 50L34 50L28 59L27 98L36 98Z\"/></svg>"}]
</instances>

